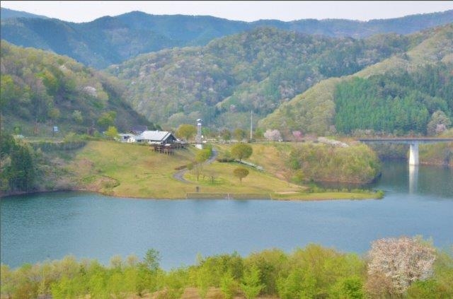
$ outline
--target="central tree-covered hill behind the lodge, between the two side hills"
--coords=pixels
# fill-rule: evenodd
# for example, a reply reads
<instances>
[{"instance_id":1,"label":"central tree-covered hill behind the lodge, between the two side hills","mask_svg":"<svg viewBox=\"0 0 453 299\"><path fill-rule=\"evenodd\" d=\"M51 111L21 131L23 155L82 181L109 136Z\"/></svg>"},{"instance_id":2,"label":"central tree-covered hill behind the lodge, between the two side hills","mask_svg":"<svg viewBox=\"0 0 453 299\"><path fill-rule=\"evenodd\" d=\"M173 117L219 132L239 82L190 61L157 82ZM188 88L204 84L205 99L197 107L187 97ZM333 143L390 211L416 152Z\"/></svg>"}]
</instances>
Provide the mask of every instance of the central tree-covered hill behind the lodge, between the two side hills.
<instances>
[{"instance_id":1,"label":"central tree-covered hill behind the lodge, between the two side hills","mask_svg":"<svg viewBox=\"0 0 453 299\"><path fill-rule=\"evenodd\" d=\"M177 127L202 118L210 127L246 128L315 83L354 74L423 35L365 40L258 28L205 47L143 54L108 71L127 85L127 101L153 122Z\"/></svg>"}]
</instances>

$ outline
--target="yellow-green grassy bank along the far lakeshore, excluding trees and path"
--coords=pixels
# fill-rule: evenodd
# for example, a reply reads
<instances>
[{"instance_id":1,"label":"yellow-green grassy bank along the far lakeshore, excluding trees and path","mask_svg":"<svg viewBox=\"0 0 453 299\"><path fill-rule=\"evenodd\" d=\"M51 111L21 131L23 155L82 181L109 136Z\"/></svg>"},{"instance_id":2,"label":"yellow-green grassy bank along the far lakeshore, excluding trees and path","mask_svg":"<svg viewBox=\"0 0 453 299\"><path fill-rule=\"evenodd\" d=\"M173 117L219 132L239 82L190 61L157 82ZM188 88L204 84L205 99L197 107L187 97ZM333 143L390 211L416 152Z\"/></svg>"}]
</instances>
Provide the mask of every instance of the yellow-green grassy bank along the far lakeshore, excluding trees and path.
<instances>
[{"instance_id":1,"label":"yellow-green grassy bank along the far lakeshore, excluding trees and path","mask_svg":"<svg viewBox=\"0 0 453 299\"><path fill-rule=\"evenodd\" d=\"M258 145L256 145L258 146ZM242 181L234 177L233 170L239 163L214 162L203 166L203 173L214 173L212 177L200 175L199 181L193 171L185 173L188 182L173 177L176 168L187 165L195 157L196 148L176 151L173 156L154 153L148 146L117 143L113 141L90 141L76 153L68 166L77 181L76 189L88 189L116 197L143 197L156 199L183 199L187 193L241 193L270 194L273 199L369 199L377 198L373 192L307 192L306 187L282 180L279 174L278 156L273 156L268 146L259 145L251 161L265 161L264 172L248 168L250 173ZM223 151L225 146L219 148ZM274 166L272 166L274 165Z\"/></svg>"}]
</instances>

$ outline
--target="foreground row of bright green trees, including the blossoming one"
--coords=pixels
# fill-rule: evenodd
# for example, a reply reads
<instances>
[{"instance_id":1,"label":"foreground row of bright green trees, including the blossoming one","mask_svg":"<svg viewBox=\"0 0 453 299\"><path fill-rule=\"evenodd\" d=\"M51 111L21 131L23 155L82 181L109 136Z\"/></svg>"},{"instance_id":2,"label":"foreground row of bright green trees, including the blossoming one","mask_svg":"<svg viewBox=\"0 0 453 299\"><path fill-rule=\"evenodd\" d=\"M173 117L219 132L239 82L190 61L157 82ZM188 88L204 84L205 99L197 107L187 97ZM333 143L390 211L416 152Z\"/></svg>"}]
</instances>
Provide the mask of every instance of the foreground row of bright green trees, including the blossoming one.
<instances>
[{"instance_id":1,"label":"foreground row of bright green trees, including the blossoming one","mask_svg":"<svg viewBox=\"0 0 453 299\"><path fill-rule=\"evenodd\" d=\"M198 257L170 271L149 250L142 260L113 257L110 266L65 257L61 261L1 265L2 298L130 298L154 293L180 298L196 288L201 298L452 298L453 256L422 238L386 238L365 257L308 245L282 250ZM212 289L215 288L215 289ZM215 295L214 297L214 294Z\"/></svg>"}]
</instances>

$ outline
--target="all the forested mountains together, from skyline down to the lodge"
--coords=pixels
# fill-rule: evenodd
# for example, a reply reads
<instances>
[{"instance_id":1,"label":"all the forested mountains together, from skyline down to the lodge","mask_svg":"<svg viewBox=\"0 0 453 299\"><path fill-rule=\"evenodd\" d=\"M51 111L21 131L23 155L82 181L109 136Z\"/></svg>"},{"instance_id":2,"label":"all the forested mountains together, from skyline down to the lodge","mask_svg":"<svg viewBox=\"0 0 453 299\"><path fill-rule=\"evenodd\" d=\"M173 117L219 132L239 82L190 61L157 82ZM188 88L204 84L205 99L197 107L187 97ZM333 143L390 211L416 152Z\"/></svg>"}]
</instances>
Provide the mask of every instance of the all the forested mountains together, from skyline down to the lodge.
<instances>
[{"instance_id":1,"label":"all the forested mountains together, from skyline down to the lodge","mask_svg":"<svg viewBox=\"0 0 453 299\"><path fill-rule=\"evenodd\" d=\"M453 115L452 24L411 35L327 35L362 37L396 27L406 33L447 20L453 20L453 11L369 22L246 23L141 12L80 24L2 18L2 38L33 39L97 66L229 35L205 46L141 54L110 66L109 75L2 40L1 105L4 119L9 117L3 124L30 131L59 122L86 131L108 123L128 129L154 122L174 129L202 118L207 127L248 129L253 111L255 127L279 129L285 137L292 131L433 134L449 127ZM260 25L285 30L251 29ZM320 35L294 31L306 28Z\"/></svg>"}]
</instances>

